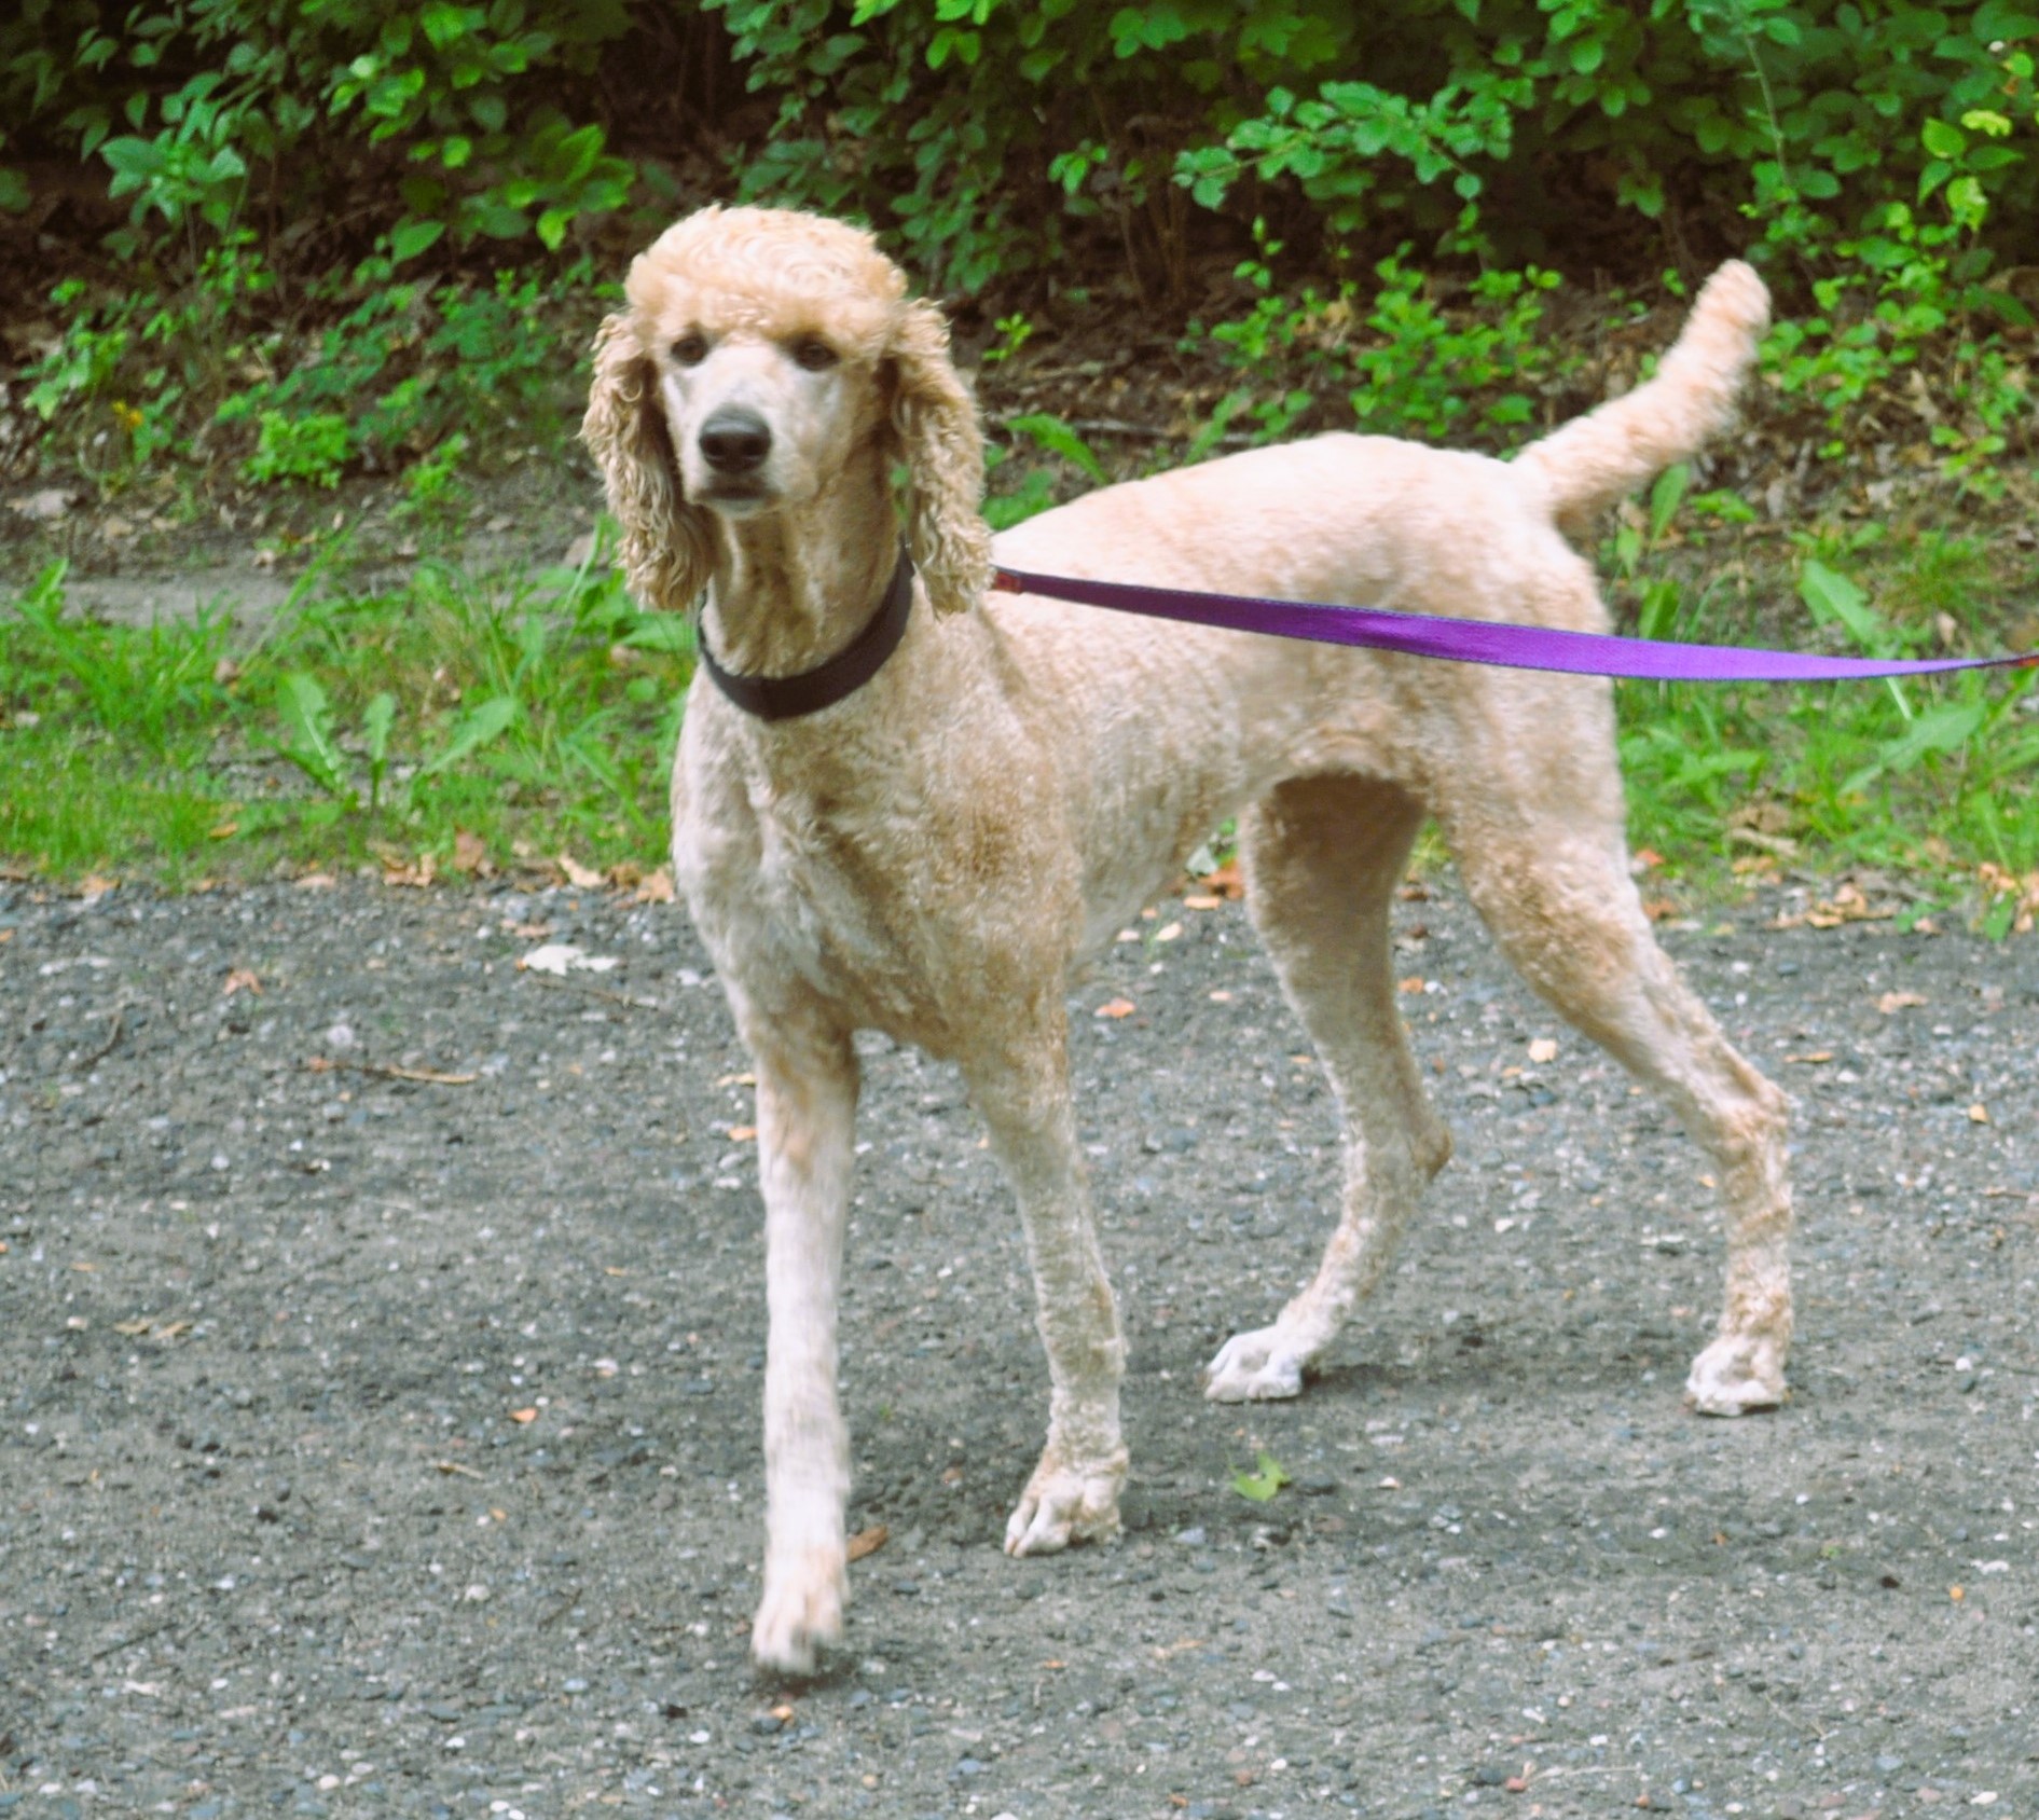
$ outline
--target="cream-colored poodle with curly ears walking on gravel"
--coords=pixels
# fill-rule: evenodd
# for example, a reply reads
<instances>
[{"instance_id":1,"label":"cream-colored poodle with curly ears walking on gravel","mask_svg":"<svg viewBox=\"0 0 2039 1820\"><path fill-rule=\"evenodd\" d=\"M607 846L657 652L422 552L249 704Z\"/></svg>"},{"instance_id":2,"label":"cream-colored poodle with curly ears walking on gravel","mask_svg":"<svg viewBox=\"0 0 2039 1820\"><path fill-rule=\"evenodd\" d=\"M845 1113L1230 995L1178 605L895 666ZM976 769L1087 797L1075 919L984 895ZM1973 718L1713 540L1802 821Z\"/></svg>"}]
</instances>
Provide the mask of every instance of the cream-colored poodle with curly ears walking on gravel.
<instances>
[{"instance_id":1,"label":"cream-colored poodle with curly ears walking on gravel","mask_svg":"<svg viewBox=\"0 0 2039 1820\"><path fill-rule=\"evenodd\" d=\"M836 1290L856 1029L958 1064L1020 1200L1052 1392L1007 1551L1117 1531L1126 1345L1070 1113L1066 997L1073 966L1227 815L1254 923L1338 1090L1346 1188L1315 1280L1223 1345L1207 1394L1295 1396L1450 1154L1389 966L1389 903L1435 815L1523 976L1713 1158L1727 1290L1692 1406L1784 1396L1784 1096L1652 938L1609 685L985 593L995 552L1036 573L1605 630L1558 526L1725 422L1766 306L1758 277L1725 265L1650 383L1513 463L1319 436L1107 487L993 546L942 316L905 296L869 234L710 208L630 267L583 434L636 595L673 611L699 595L726 673L814 671L883 615L899 465L918 571L901 642L869 683L761 719L697 677L673 768L675 872L756 1058L761 1663L807 1669L842 1630Z\"/></svg>"}]
</instances>

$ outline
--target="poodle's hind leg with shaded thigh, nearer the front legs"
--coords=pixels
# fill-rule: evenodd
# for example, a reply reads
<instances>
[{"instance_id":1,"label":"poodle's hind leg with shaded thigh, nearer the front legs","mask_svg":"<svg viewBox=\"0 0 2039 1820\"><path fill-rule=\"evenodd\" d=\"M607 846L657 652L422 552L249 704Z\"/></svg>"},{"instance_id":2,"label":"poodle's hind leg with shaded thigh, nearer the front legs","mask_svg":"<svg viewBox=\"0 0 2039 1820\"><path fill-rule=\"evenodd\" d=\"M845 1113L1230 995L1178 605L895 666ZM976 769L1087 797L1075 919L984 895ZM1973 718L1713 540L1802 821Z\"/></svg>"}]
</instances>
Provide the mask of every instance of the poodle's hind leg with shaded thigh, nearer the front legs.
<instances>
[{"instance_id":1,"label":"poodle's hind leg with shaded thigh, nearer the front legs","mask_svg":"<svg viewBox=\"0 0 2039 1820\"><path fill-rule=\"evenodd\" d=\"M1248 909L1344 1115L1338 1231L1309 1286L1272 1327L1234 1335L1205 1368L1217 1402L1295 1396L1366 1296L1415 1202L1452 1154L1417 1074L1389 950L1389 907L1421 805L1358 777L1295 779L1242 821Z\"/></svg>"}]
</instances>

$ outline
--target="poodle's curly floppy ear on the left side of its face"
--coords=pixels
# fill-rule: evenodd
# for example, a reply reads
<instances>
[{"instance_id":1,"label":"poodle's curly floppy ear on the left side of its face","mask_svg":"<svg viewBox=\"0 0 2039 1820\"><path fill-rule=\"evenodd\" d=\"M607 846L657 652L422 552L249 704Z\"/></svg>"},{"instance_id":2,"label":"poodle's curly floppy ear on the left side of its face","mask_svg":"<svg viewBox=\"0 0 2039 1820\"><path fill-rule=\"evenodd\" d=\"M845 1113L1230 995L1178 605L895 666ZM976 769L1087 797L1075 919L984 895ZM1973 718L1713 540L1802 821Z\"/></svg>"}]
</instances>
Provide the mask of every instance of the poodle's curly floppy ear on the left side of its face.
<instances>
[{"instance_id":1,"label":"poodle's curly floppy ear on the left side of its face","mask_svg":"<svg viewBox=\"0 0 2039 1820\"><path fill-rule=\"evenodd\" d=\"M659 379L626 316L595 334L595 383L581 440L595 457L624 532L624 579L646 607L685 611L708 587L714 544L703 514L679 495Z\"/></svg>"}]
</instances>

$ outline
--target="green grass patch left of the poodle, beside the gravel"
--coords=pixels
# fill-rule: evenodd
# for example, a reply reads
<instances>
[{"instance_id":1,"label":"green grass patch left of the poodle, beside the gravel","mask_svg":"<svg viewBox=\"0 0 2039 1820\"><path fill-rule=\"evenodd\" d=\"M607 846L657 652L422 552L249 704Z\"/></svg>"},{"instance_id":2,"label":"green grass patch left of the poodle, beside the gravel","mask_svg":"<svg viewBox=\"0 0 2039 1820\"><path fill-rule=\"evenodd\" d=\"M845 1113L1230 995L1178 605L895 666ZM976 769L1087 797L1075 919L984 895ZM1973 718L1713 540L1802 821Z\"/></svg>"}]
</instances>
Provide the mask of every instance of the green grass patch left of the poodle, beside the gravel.
<instances>
[{"instance_id":1,"label":"green grass patch left of the poodle, beside the gravel","mask_svg":"<svg viewBox=\"0 0 2039 1820\"><path fill-rule=\"evenodd\" d=\"M67 618L51 569L0 609L0 854L167 885L420 854L655 866L689 675L685 622L606 563L308 583L253 636Z\"/></svg>"}]
</instances>

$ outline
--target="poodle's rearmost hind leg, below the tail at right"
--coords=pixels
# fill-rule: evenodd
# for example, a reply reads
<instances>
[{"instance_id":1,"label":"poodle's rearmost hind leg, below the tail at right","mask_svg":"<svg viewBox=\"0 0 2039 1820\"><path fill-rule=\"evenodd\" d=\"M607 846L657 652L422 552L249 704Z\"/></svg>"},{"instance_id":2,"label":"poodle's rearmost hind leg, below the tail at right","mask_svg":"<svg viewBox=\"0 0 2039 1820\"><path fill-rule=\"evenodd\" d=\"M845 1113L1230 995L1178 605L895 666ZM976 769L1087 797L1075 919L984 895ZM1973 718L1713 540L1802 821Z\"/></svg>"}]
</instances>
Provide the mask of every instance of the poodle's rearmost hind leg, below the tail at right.
<instances>
[{"instance_id":1,"label":"poodle's rearmost hind leg, below the tail at right","mask_svg":"<svg viewBox=\"0 0 2039 1820\"><path fill-rule=\"evenodd\" d=\"M1784 1094L1735 1054L1658 948L1619 838L1550 823L1486 821L1460 852L1466 889L1523 978L1658 1088L1713 1158L1727 1292L1686 1400L1715 1416L1774 1408L1792 1327Z\"/></svg>"}]
</instances>

